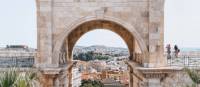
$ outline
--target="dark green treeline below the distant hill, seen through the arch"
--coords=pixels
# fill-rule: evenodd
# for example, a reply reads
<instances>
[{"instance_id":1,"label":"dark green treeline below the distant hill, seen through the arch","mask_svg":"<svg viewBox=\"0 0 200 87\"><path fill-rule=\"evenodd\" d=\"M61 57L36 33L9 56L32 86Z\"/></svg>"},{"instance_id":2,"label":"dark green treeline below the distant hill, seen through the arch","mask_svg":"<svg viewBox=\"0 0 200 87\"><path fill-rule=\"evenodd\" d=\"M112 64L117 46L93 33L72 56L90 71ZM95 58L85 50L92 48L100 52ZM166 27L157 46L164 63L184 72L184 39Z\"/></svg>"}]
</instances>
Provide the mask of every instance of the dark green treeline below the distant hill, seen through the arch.
<instances>
[{"instance_id":1,"label":"dark green treeline below the distant hill, seen through the arch","mask_svg":"<svg viewBox=\"0 0 200 87\"><path fill-rule=\"evenodd\" d=\"M93 52L79 53L73 55L74 60L91 61L91 60L108 60L110 57L107 55L96 54Z\"/></svg>"}]
</instances>

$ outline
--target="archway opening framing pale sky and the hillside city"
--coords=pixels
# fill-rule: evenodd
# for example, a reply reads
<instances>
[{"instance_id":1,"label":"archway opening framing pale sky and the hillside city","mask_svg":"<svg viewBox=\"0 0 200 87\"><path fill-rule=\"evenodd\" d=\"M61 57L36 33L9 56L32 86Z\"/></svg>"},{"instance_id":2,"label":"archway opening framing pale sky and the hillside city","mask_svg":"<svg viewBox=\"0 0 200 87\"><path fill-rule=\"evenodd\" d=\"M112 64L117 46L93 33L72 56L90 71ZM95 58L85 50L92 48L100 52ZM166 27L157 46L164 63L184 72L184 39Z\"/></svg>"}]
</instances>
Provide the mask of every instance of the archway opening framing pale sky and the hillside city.
<instances>
[{"instance_id":1,"label":"archway opening framing pale sky and the hillside city","mask_svg":"<svg viewBox=\"0 0 200 87\"><path fill-rule=\"evenodd\" d=\"M125 61L129 60L130 53L125 41L118 34L108 29L88 31L76 42L72 55L73 61L77 61L72 68L72 87L91 83L129 86L130 70Z\"/></svg>"}]
</instances>

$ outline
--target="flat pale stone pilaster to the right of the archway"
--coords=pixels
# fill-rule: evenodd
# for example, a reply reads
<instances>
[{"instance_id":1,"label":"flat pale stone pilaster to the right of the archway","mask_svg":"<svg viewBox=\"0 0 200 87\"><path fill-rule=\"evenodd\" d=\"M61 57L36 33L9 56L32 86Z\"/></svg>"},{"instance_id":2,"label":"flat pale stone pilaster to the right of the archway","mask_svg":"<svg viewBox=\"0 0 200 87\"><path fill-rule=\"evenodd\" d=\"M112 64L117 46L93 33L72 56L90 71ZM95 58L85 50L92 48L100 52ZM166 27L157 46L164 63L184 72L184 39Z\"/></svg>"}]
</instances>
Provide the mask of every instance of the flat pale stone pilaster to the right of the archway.
<instances>
[{"instance_id":1,"label":"flat pale stone pilaster to the right of the archway","mask_svg":"<svg viewBox=\"0 0 200 87\"><path fill-rule=\"evenodd\" d=\"M149 2L149 67L167 65L167 58L164 57L164 2L165 0Z\"/></svg>"}]
</instances>

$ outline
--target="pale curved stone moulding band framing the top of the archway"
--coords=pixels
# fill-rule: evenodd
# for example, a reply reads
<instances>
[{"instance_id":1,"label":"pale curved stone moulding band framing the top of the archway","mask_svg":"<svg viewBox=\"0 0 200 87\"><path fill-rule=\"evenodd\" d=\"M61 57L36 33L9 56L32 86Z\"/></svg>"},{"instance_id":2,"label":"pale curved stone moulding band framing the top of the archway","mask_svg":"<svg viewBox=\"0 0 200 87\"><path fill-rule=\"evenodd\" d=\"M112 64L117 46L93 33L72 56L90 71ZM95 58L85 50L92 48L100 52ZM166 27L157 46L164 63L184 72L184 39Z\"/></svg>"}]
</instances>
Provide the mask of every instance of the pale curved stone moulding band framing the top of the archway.
<instances>
[{"instance_id":1,"label":"pale curved stone moulding band framing the top of the archway","mask_svg":"<svg viewBox=\"0 0 200 87\"><path fill-rule=\"evenodd\" d=\"M90 22L90 21L108 21L108 22L113 22L116 25L119 25L121 27L123 27L124 29L126 29L128 32L131 33L131 35L133 37L135 37L136 41L138 42L138 45L141 49L141 52L143 54L143 64L148 62L147 56L148 56L148 49L147 49L147 45L144 41L144 39L140 36L140 34L137 32L137 30L129 23L122 21L120 19L117 18L113 18L113 17L108 17L108 16L104 16L103 18L98 18L96 16L86 16L83 17L81 19L78 19L76 21L74 21L70 26L68 26L62 34L60 34L58 36L58 38L56 38L56 42L53 48L53 62L58 64L57 61L59 61L59 53L60 53L60 49L62 48L63 44L65 43L64 41L66 40L66 37L68 37L68 35L75 30L78 26L80 26L81 24Z\"/></svg>"}]
</instances>

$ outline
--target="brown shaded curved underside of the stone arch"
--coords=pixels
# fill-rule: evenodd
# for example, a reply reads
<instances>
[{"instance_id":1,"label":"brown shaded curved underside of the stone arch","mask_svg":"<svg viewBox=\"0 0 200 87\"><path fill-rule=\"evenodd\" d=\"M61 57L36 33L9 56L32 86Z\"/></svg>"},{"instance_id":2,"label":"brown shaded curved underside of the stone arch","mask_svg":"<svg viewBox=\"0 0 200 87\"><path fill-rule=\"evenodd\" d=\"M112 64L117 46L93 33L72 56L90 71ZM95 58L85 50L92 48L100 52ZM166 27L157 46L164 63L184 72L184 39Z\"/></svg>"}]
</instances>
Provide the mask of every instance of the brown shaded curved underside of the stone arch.
<instances>
[{"instance_id":1,"label":"brown shaded curved underside of the stone arch","mask_svg":"<svg viewBox=\"0 0 200 87\"><path fill-rule=\"evenodd\" d=\"M76 27L74 30L72 30L69 35L66 37L64 42L67 42L67 47L68 49L65 50L68 53L68 58L67 60L71 61L72 60L72 51L74 48L74 45L76 42L79 40L79 38L84 35L85 33L95 30L95 29L107 29L110 31L113 31L117 33L121 38L125 41L127 44L128 50L130 57L129 59L133 59L133 55L135 52L135 46L136 46L136 40L135 37L124 27L120 26L119 24L116 24L111 21L105 21L105 20L93 20L89 22L85 22L78 27ZM63 43L64 48L66 48L66 43Z\"/></svg>"}]
</instances>

